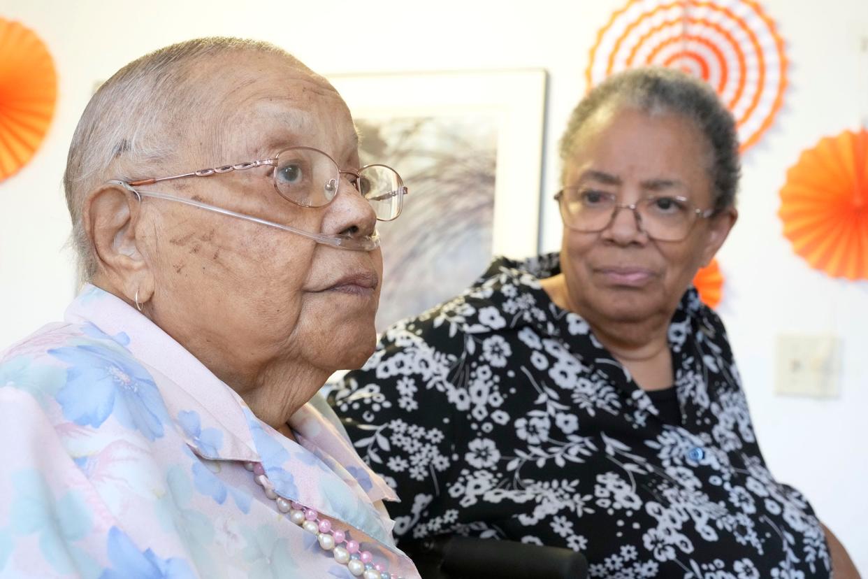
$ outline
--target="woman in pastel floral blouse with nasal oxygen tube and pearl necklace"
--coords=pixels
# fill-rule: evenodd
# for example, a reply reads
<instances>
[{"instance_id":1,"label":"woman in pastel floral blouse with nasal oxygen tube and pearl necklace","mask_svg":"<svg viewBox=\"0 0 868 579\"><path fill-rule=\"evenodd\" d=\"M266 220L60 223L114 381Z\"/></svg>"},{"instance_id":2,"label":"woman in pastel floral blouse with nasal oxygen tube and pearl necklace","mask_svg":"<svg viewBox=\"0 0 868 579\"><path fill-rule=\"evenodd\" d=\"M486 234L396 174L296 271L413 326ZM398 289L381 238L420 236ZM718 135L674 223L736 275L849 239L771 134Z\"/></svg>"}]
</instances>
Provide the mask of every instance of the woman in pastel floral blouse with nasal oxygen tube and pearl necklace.
<instances>
[{"instance_id":1,"label":"woman in pastel floral blouse with nasal oxygen tube and pearl necklace","mask_svg":"<svg viewBox=\"0 0 868 579\"><path fill-rule=\"evenodd\" d=\"M176 44L97 91L64 180L89 284L0 362L0 576L418 577L312 400L373 352L405 191L357 144L264 43Z\"/></svg>"}]
</instances>

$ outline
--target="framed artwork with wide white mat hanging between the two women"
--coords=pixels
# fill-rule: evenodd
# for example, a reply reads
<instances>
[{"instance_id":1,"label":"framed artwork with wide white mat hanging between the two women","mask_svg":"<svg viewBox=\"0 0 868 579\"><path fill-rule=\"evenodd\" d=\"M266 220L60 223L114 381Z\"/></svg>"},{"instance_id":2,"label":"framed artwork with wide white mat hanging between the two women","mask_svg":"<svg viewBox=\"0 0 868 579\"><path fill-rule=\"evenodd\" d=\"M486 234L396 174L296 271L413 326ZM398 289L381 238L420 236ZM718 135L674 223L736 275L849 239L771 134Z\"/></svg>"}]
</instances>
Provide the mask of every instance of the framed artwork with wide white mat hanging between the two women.
<instances>
[{"instance_id":1,"label":"framed artwork with wide white mat hanging between the two women","mask_svg":"<svg viewBox=\"0 0 868 579\"><path fill-rule=\"evenodd\" d=\"M469 286L493 255L537 251L544 70L330 75L365 163L398 170L409 194L378 225L377 329Z\"/></svg>"}]
</instances>

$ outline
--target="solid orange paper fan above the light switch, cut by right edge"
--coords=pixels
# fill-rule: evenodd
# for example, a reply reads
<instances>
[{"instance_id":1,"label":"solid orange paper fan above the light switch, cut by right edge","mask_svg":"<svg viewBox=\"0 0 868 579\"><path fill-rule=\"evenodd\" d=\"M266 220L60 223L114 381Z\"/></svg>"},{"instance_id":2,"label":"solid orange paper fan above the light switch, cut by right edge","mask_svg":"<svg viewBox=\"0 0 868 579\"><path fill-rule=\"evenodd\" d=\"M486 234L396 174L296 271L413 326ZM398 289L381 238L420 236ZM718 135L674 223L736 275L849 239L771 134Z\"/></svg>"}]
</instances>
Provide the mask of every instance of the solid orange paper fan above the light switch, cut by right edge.
<instances>
[{"instance_id":1,"label":"solid orange paper fan above the light switch, cut by right edge","mask_svg":"<svg viewBox=\"0 0 868 579\"><path fill-rule=\"evenodd\" d=\"M803 151L786 172L778 215L793 251L812 267L868 279L868 130Z\"/></svg>"}]
</instances>

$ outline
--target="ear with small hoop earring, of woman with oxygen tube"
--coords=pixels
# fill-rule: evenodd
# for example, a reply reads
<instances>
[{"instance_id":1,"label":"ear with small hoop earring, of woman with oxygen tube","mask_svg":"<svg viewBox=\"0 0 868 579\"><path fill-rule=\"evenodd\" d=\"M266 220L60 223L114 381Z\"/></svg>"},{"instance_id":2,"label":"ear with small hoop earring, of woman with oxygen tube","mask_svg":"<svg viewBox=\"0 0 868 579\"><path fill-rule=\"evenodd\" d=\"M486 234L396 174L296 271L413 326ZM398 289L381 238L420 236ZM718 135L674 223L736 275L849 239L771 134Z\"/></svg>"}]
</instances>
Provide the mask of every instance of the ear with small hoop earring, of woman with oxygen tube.
<instances>
[{"instance_id":1,"label":"ear with small hoop earring, of woman with oxygen tube","mask_svg":"<svg viewBox=\"0 0 868 579\"><path fill-rule=\"evenodd\" d=\"M121 185L105 183L84 200L82 221L93 243L97 276L109 291L144 304L154 293L154 276L137 237L141 201Z\"/></svg>"}]
</instances>

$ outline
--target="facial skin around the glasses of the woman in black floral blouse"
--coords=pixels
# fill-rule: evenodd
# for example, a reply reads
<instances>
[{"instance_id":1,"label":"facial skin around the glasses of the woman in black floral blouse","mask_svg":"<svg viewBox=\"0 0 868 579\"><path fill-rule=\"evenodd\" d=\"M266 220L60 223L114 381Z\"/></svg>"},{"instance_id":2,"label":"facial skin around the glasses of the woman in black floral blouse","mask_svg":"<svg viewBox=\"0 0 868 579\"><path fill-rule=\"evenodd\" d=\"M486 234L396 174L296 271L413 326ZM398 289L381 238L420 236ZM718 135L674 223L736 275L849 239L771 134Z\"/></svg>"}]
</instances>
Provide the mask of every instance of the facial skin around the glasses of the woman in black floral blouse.
<instances>
[{"instance_id":1,"label":"facial skin around the glasses of the woman in black floral blouse","mask_svg":"<svg viewBox=\"0 0 868 579\"><path fill-rule=\"evenodd\" d=\"M681 116L602 109L575 137L564 186L613 193L620 204L682 196L704 211L713 207L709 156L704 135ZM700 219L681 241L649 239L629 209L601 232L564 227L561 263L570 308L597 323L669 319L735 216L730 209Z\"/></svg>"}]
</instances>

